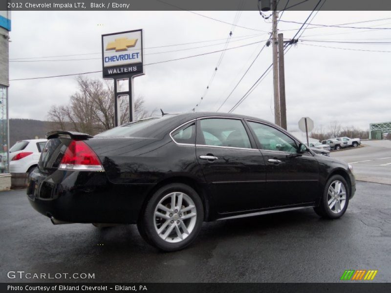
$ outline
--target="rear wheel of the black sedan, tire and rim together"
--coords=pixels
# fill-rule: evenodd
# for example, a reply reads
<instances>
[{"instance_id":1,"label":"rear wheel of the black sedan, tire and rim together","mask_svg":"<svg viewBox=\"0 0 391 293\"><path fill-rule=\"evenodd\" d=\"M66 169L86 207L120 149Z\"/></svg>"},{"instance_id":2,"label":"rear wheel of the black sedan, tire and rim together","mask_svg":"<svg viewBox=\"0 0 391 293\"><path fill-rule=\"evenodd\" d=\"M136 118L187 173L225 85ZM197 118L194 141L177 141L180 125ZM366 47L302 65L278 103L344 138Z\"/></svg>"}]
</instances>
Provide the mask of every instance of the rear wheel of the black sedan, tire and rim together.
<instances>
[{"instance_id":1,"label":"rear wheel of the black sedan, tire and rim together","mask_svg":"<svg viewBox=\"0 0 391 293\"><path fill-rule=\"evenodd\" d=\"M172 183L153 193L137 228L152 246L178 251L195 240L203 220L203 205L197 192L185 184Z\"/></svg>"}]
</instances>

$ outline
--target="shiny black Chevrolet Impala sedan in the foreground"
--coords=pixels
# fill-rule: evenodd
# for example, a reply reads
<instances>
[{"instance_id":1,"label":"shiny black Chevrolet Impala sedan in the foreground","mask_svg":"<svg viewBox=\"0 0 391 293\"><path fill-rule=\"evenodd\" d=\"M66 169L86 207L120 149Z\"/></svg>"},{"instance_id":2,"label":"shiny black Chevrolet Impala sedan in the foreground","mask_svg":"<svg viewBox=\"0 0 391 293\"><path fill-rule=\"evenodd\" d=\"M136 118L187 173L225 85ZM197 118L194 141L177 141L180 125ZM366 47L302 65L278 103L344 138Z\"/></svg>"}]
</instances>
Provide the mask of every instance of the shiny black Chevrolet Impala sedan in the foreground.
<instances>
[{"instance_id":1,"label":"shiny black Chevrolet Impala sedan in the foreground","mask_svg":"<svg viewBox=\"0 0 391 293\"><path fill-rule=\"evenodd\" d=\"M29 177L34 209L53 224L137 224L165 251L189 245L203 221L305 208L339 218L355 192L351 166L253 117L163 115L47 138Z\"/></svg>"}]
</instances>

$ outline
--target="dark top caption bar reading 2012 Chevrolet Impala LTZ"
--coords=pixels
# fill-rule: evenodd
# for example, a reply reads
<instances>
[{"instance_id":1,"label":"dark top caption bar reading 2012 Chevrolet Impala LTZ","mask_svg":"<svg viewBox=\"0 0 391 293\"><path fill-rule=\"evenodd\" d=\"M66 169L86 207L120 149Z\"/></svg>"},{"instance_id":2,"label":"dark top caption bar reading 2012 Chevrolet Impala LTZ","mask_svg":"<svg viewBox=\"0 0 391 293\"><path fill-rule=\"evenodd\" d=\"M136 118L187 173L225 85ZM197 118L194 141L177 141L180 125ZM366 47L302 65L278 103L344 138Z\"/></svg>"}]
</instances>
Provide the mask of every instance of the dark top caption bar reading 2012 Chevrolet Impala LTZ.
<instances>
[{"instance_id":1,"label":"dark top caption bar reading 2012 Chevrolet Impala LTZ","mask_svg":"<svg viewBox=\"0 0 391 293\"><path fill-rule=\"evenodd\" d=\"M319 0L279 0L277 10L311 11ZM324 4L323 4L324 3ZM1 0L0 10L13 11L257 11L258 0ZM287 4L287 5L286 5ZM390 0L321 0L326 11L391 10Z\"/></svg>"}]
</instances>

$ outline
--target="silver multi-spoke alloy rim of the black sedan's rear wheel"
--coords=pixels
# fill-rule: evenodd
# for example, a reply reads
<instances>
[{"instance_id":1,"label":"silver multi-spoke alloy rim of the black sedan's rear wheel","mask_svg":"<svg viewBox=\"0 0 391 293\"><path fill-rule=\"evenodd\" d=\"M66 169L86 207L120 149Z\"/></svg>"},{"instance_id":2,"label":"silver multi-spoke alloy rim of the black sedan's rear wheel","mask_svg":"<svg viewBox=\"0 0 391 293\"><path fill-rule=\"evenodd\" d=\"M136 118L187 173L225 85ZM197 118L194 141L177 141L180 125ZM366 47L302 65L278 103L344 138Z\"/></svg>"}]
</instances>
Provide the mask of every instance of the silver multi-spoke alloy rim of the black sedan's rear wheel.
<instances>
[{"instance_id":1,"label":"silver multi-spoke alloy rim of the black sedan's rear wheel","mask_svg":"<svg viewBox=\"0 0 391 293\"><path fill-rule=\"evenodd\" d=\"M177 243L186 239L194 230L197 210L194 201L183 192L171 192L156 205L153 223L161 239Z\"/></svg>"}]
</instances>

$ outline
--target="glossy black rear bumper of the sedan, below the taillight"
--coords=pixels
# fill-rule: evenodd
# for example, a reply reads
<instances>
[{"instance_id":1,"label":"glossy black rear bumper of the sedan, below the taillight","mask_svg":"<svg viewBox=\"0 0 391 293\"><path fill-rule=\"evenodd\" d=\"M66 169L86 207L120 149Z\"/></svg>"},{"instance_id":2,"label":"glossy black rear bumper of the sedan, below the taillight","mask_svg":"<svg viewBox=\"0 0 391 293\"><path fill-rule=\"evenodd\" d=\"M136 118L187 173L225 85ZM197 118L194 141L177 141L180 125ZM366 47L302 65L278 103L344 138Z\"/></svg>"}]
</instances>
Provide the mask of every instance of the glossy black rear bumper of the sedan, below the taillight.
<instances>
[{"instance_id":1,"label":"glossy black rear bumper of the sedan, below the taillight","mask_svg":"<svg viewBox=\"0 0 391 293\"><path fill-rule=\"evenodd\" d=\"M73 223L137 222L148 186L112 184L105 172L35 170L27 198L45 216Z\"/></svg>"}]
</instances>

